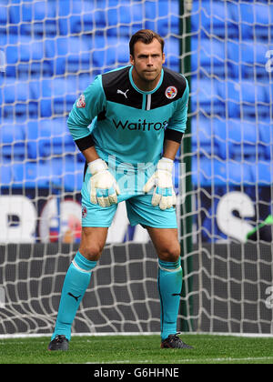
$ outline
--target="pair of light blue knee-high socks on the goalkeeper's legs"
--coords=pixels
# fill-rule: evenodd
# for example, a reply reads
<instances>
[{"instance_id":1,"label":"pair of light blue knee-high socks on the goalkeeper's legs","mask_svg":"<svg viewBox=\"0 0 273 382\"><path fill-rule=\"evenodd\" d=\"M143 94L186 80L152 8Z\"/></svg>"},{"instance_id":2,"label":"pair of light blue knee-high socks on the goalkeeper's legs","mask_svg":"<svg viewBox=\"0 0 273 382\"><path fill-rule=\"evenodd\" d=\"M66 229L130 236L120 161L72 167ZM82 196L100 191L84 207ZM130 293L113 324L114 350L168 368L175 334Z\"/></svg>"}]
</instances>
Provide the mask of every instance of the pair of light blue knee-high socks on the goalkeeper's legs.
<instances>
[{"instance_id":1,"label":"pair of light blue knee-high socks on the goalkeeper's legs","mask_svg":"<svg viewBox=\"0 0 273 382\"><path fill-rule=\"evenodd\" d=\"M158 259L157 286L161 303L161 338L177 333L177 315L180 304L182 288L182 267L180 258L171 263ZM71 338L71 326L76 316L76 311L86 288L90 283L92 269L96 261L87 260L79 252L70 264L64 281L61 300L56 319L56 327L51 339L56 335L65 335Z\"/></svg>"}]
</instances>

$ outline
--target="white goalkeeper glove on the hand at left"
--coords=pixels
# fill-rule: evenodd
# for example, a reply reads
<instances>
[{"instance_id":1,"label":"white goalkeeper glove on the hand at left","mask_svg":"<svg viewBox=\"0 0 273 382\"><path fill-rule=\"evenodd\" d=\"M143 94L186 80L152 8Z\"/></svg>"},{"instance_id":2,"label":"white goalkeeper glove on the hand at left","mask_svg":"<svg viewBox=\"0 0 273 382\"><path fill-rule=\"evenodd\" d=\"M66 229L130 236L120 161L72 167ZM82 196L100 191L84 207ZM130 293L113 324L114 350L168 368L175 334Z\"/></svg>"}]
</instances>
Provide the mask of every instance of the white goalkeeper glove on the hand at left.
<instances>
[{"instance_id":1,"label":"white goalkeeper glove on the hand at left","mask_svg":"<svg viewBox=\"0 0 273 382\"><path fill-rule=\"evenodd\" d=\"M96 159L88 163L91 173L90 201L99 206L106 207L117 203L117 195L120 194L116 179L108 170L106 162Z\"/></svg>"}]
</instances>

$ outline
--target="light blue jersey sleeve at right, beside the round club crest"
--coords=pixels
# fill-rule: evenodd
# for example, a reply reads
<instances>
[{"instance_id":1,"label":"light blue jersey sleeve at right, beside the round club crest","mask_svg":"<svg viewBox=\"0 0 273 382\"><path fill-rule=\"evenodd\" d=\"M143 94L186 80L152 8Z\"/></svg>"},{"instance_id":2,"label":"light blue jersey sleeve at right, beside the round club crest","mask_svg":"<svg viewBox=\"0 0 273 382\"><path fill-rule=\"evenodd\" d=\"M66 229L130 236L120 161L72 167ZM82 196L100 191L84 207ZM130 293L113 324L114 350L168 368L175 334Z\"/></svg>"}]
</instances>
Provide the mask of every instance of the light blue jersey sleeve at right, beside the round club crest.
<instances>
[{"instance_id":1,"label":"light blue jersey sleeve at right, beside the round club crest","mask_svg":"<svg viewBox=\"0 0 273 382\"><path fill-rule=\"evenodd\" d=\"M185 77L184 77L185 78ZM188 83L186 81L186 88L183 96L177 101L177 108L168 121L167 130L176 130L180 133L185 133L187 124L187 103L188 103Z\"/></svg>"}]
</instances>

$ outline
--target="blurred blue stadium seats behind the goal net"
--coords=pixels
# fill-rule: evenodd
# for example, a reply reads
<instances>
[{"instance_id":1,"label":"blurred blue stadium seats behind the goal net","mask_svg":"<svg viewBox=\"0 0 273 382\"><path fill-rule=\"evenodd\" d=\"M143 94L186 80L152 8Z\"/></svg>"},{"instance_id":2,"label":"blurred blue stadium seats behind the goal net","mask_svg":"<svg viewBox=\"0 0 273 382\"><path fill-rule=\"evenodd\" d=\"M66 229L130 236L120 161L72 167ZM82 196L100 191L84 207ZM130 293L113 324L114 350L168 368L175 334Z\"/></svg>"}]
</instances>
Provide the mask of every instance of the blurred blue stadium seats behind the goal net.
<instances>
[{"instance_id":1,"label":"blurred blue stadium seats behind the goal net","mask_svg":"<svg viewBox=\"0 0 273 382\"><path fill-rule=\"evenodd\" d=\"M113 69L116 62L128 63L129 34L142 27L143 20L146 27L166 36L169 31L166 15L172 13L172 27L178 30L178 2L172 9L167 1L160 2L158 9L151 1L144 8L139 3L129 6L126 1L109 0L107 7L105 3L99 1L95 9L94 3L87 1L63 1L62 6L53 0L13 1L0 8L0 42L7 57L0 109L5 122L1 133L4 144L1 156L5 160L11 155L24 155L36 158L38 165L40 158L60 154L62 150L65 154L76 150L68 138L66 116L76 97L100 73L101 63L104 70ZM242 155L242 147L244 157L256 156L258 138L261 143L258 156L266 161L271 157L268 129L259 125L258 136L255 124L251 124L253 116L258 115L260 122L270 114L268 73L264 70L268 49L264 41L273 37L273 28L269 28L272 35L268 35L268 26L264 26L273 20L273 7L269 10L268 13L268 6L261 3L221 2L212 6L211 2L202 1L200 11L199 2L193 3L193 131L197 128L195 111L198 110L202 122L198 138L193 138L192 143L193 152L199 147L205 162L206 156L212 154L222 159L235 158ZM96 33L92 34L95 26ZM175 38L167 40L166 54L167 65L178 71L179 46ZM16 81L18 77L20 83ZM249 85L253 78L255 84ZM7 126L11 129L9 133ZM20 144L11 145L11 135ZM246 138L243 143L242 135ZM77 158L82 165L82 156ZM221 174L220 166L214 166L214 170ZM10 175L8 170L5 173Z\"/></svg>"}]
</instances>

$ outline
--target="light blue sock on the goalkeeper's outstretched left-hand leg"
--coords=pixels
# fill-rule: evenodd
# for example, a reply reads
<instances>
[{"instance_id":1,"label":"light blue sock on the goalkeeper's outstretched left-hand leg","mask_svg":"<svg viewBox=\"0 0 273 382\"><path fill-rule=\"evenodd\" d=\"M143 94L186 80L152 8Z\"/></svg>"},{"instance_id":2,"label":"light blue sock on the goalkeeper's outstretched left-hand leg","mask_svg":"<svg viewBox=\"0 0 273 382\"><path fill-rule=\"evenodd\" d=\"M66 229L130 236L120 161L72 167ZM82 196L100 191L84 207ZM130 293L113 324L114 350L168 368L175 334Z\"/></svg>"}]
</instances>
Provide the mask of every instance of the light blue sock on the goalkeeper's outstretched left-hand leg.
<instances>
[{"instance_id":1,"label":"light blue sock on the goalkeeper's outstretched left-hand leg","mask_svg":"<svg viewBox=\"0 0 273 382\"><path fill-rule=\"evenodd\" d=\"M76 316L77 308L86 293L89 285L92 269L96 266L96 261L87 260L79 252L70 264L64 281L56 327L51 339L56 335L65 335L68 340L71 338L71 326Z\"/></svg>"}]
</instances>

